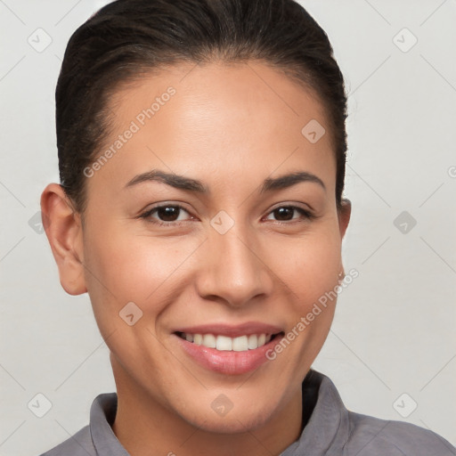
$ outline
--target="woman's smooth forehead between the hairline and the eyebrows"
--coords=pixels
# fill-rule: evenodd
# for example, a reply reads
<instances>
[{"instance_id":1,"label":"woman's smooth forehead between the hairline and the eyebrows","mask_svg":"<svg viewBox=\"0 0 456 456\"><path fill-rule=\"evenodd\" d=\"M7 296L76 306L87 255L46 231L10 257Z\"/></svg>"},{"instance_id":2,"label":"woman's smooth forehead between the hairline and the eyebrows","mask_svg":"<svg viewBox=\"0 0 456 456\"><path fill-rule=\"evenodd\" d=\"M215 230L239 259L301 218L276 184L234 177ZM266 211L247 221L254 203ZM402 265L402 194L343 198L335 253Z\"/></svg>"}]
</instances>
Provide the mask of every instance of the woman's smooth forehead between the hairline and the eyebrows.
<instances>
[{"instance_id":1,"label":"woman's smooth forehead between the hairline and the eyebrows","mask_svg":"<svg viewBox=\"0 0 456 456\"><path fill-rule=\"evenodd\" d=\"M127 175L152 167L198 173L205 180L269 175L274 169L281 174L300 166L335 179L322 102L304 85L258 61L160 69L124 85L111 98L110 109L113 134L101 153L118 142L108 165L113 173L126 175L125 182ZM328 134L312 142L306 136L309 128ZM125 140L128 130L134 133ZM99 175L106 177L104 171Z\"/></svg>"}]
</instances>

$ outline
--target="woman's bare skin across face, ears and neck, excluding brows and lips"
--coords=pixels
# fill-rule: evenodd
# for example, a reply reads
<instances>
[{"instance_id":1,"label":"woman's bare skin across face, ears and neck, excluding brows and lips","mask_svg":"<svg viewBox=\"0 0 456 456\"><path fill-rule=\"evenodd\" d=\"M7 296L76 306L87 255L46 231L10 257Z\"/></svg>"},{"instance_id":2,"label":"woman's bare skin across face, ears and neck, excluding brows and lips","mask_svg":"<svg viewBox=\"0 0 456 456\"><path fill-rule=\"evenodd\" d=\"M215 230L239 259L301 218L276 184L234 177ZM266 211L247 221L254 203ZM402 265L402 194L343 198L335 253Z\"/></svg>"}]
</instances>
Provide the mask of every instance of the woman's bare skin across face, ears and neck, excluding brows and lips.
<instances>
[{"instance_id":1,"label":"woman's bare skin across face, ears and neck, excluding brows and lips","mask_svg":"<svg viewBox=\"0 0 456 456\"><path fill-rule=\"evenodd\" d=\"M335 301L273 361L255 371L209 371L183 352L173 332L204 323L263 322L284 332L338 284L341 241L350 216L338 213L336 162L322 103L277 69L257 61L179 64L119 91L110 141L167 87L175 94L86 180L84 220L60 185L42 195L45 230L72 295L88 291L110 347L118 389L113 430L134 456L279 454L301 429L301 382L330 330ZM327 133L309 142L317 119ZM105 149L102 149L104 151ZM208 194L145 182L152 169L199 179ZM305 171L318 183L260 192L267 177ZM159 226L157 203L180 204L177 222ZM273 209L311 210L315 218ZM233 220L221 234L211 220ZM128 302L142 310L130 326ZM211 403L232 403L224 416Z\"/></svg>"}]
</instances>

